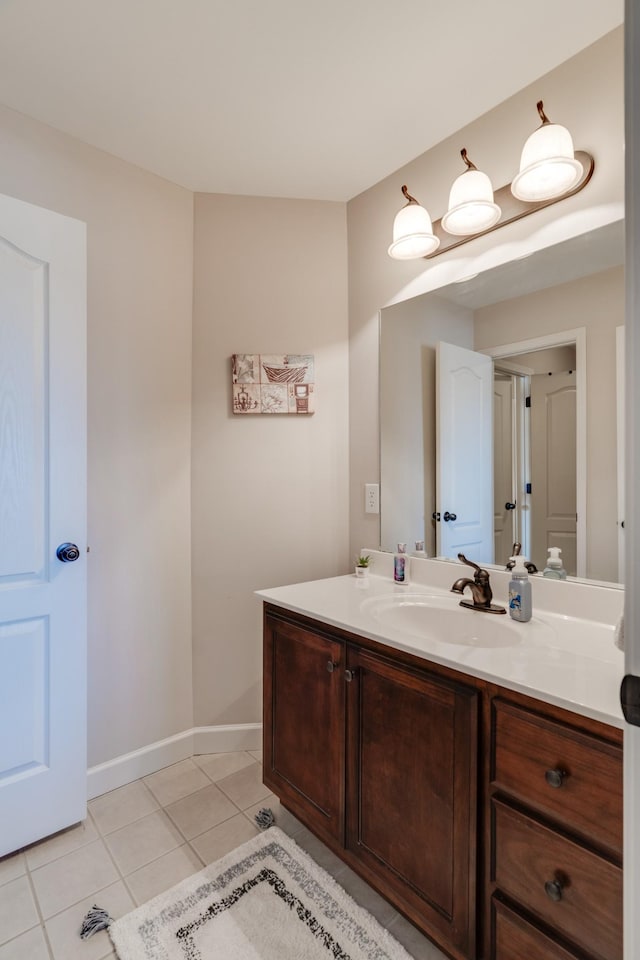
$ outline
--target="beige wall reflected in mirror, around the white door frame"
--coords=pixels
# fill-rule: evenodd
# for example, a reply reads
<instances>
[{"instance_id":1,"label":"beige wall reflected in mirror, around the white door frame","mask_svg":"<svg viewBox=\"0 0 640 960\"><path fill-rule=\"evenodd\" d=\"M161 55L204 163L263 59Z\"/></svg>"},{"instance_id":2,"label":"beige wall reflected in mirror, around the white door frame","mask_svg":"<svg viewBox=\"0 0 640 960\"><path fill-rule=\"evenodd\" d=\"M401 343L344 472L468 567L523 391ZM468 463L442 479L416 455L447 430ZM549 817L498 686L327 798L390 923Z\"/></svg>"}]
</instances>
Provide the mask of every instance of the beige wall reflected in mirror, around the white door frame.
<instances>
[{"instance_id":1,"label":"beige wall reflected in mirror, around the white door frame","mask_svg":"<svg viewBox=\"0 0 640 960\"><path fill-rule=\"evenodd\" d=\"M587 576L618 579L616 327L624 323L622 267L477 310L476 350L562 330L586 331Z\"/></svg>"}]
</instances>

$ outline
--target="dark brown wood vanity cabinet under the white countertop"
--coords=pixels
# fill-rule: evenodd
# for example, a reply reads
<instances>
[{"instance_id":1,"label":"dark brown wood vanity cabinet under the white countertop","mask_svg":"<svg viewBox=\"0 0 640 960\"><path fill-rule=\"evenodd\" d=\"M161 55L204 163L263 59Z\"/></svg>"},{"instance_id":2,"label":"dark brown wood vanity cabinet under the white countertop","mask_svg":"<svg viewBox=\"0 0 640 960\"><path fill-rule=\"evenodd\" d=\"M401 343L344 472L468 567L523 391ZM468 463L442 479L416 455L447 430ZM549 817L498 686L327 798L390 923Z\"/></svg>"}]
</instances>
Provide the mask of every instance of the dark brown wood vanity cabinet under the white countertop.
<instances>
[{"instance_id":1,"label":"dark brown wood vanity cabinet under the white countertop","mask_svg":"<svg viewBox=\"0 0 640 960\"><path fill-rule=\"evenodd\" d=\"M622 732L265 605L264 780L455 960L622 960Z\"/></svg>"}]
</instances>

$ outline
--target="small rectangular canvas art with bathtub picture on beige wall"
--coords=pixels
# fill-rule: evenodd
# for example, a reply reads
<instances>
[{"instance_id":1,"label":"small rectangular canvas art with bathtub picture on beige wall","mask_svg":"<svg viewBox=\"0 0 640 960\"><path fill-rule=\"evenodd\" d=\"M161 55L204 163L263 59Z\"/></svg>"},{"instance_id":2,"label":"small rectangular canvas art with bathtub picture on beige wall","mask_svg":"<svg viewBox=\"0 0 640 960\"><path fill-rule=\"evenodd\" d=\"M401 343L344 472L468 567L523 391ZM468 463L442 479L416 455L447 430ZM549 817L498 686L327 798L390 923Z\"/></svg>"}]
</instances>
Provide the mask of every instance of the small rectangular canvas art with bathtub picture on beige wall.
<instances>
[{"instance_id":1,"label":"small rectangular canvas art with bathtub picture on beige wall","mask_svg":"<svg viewBox=\"0 0 640 960\"><path fill-rule=\"evenodd\" d=\"M312 353L234 353L234 413L315 412Z\"/></svg>"}]
</instances>

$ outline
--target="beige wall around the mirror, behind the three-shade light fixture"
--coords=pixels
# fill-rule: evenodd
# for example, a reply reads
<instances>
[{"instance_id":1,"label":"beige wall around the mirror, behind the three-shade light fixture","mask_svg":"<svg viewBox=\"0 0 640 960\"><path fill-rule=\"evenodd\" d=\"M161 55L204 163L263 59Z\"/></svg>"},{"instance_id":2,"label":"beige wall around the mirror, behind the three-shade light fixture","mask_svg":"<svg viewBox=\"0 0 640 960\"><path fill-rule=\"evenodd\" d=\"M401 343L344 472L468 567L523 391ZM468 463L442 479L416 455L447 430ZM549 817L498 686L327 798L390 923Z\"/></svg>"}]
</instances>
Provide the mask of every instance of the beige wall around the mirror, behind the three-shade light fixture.
<instances>
[{"instance_id":1,"label":"beige wall around the mirror, behind the three-shade light fixture","mask_svg":"<svg viewBox=\"0 0 640 960\"><path fill-rule=\"evenodd\" d=\"M363 484L379 477L378 311L516 256L619 219L624 202L622 29L562 64L530 87L351 200L349 227L350 505L351 547L379 542L378 518L364 513ZM520 151L537 125L536 101L565 123L577 149L596 161L593 179L569 200L432 261L397 262L387 255L393 218L403 204L400 187L430 210L446 210L451 183L466 147L496 187L512 180ZM419 122L419 118L416 119ZM535 336L531 330L530 336Z\"/></svg>"}]
</instances>

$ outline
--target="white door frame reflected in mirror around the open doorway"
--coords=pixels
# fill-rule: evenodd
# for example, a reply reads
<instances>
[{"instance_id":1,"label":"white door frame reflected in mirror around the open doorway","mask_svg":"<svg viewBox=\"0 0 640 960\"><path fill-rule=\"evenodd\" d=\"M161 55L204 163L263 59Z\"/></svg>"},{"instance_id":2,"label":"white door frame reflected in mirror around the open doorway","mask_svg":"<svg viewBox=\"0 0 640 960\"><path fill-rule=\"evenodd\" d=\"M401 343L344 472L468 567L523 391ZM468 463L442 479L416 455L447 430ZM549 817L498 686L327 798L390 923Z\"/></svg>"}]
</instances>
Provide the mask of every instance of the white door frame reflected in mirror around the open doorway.
<instances>
[{"instance_id":1,"label":"white door frame reflected in mirror around the open doorway","mask_svg":"<svg viewBox=\"0 0 640 960\"><path fill-rule=\"evenodd\" d=\"M512 357L549 347L574 346L576 350L576 559L577 576L587 575L587 331L585 327L561 330L530 340L501 343L485 347L486 353L495 360Z\"/></svg>"}]
</instances>

